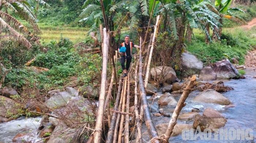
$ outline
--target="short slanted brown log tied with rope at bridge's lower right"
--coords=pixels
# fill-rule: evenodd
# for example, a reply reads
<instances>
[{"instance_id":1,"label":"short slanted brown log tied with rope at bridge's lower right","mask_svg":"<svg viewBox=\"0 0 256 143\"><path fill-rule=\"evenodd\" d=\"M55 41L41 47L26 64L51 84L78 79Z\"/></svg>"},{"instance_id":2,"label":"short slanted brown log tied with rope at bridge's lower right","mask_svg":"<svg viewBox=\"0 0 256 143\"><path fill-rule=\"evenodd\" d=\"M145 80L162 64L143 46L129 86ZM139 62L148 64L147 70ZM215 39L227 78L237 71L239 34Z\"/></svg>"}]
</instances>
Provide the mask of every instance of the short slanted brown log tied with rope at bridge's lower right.
<instances>
[{"instance_id":1,"label":"short slanted brown log tied with rope at bridge's lower right","mask_svg":"<svg viewBox=\"0 0 256 143\"><path fill-rule=\"evenodd\" d=\"M176 121L180 114L181 109L185 106L184 102L188 98L188 95L192 90L191 88L193 88L195 85L196 85L196 76L193 75L192 78L190 79L188 85L186 86L186 88L183 89L184 91L180 97L180 100L178 101L177 106L174 109L174 112L173 112L172 118L169 122L168 128L167 128L165 134L162 135L163 139L166 142L168 142L168 140L172 134L173 128L176 124Z\"/></svg>"}]
</instances>

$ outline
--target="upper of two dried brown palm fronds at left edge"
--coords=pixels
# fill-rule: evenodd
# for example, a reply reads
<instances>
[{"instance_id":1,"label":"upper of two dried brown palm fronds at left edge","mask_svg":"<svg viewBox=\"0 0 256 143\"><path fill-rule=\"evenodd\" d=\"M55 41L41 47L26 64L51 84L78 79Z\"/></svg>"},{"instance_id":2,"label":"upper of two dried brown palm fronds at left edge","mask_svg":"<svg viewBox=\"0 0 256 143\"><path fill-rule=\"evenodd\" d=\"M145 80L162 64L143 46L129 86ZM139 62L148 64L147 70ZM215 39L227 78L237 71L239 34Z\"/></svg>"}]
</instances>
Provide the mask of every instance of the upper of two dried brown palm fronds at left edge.
<instances>
[{"instance_id":1,"label":"upper of two dried brown palm fronds at left edge","mask_svg":"<svg viewBox=\"0 0 256 143\"><path fill-rule=\"evenodd\" d=\"M5 21L9 24L9 25L13 25L15 29L19 29L21 32L30 34L29 30L22 24L20 23L18 20L16 20L14 17L12 17L11 15L9 15L8 13L5 13L3 11L0 11L0 17L4 18Z\"/></svg>"}]
</instances>

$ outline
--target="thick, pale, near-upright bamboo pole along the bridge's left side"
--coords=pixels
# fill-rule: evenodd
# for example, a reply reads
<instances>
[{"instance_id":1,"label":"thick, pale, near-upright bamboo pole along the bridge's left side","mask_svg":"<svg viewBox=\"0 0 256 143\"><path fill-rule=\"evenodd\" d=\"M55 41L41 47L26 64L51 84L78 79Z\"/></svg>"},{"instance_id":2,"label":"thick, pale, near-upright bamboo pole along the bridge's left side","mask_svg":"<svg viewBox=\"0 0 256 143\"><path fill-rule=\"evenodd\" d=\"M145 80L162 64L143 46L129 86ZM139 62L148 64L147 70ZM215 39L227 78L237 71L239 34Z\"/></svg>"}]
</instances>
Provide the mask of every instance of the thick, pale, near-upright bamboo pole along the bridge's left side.
<instances>
[{"instance_id":1,"label":"thick, pale, near-upright bamboo pole along the bridge's left side","mask_svg":"<svg viewBox=\"0 0 256 143\"><path fill-rule=\"evenodd\" d=\"M94 143L101 142L101 132L102 132L102 120L103 120L103 109L104 109L104 102L105 102L105 93L106 93L106 79L107 79L107 51L108 51L108 36L106 32L106 28L103 29L103 57L102 57L102 72L101 72L101 91L99 94L99 106L98 112L96 117L96 124L95 124L95 132L94 132Z\"/></svg>"}]
</instances>

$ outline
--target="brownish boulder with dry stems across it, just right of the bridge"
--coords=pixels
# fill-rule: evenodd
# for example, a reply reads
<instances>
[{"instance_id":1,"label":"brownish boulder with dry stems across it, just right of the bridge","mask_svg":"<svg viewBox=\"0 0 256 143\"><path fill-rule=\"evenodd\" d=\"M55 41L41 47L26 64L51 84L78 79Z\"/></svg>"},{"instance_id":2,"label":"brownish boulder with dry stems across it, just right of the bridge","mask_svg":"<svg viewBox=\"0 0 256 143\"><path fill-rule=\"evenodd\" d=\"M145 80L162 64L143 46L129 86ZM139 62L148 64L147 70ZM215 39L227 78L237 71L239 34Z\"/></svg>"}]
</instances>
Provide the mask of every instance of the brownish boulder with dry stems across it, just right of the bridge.
<instances>
[{"instance_id":1,"label":"brownish boulder with dry stems across it, just right of the bridge","mask_svg":"<svg viewBox=\"0 0 256 143\"><path fill-rule=\"evenodd\" d=\"M161 82L169 84L178 82L178 78L173 68L166 66L158 66L150 69L152 79L159 79Z\"/></svg>"}]
</instances>

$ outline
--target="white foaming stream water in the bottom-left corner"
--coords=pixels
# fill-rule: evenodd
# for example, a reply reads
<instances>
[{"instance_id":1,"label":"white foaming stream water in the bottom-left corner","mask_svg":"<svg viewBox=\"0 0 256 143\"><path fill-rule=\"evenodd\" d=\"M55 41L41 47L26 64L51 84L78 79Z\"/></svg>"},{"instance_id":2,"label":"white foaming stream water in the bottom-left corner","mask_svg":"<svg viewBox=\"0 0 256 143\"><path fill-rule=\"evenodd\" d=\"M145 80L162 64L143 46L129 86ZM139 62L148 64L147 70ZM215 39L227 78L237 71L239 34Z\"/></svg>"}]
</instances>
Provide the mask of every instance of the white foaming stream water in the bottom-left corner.
<instances>
[{"instance_id":1,"label":"white foaming stream water in the bottom-left corner","mask_svg":"<svg viewBox=\"0 0 256 143\"><path fill-rule=\"evenodd\" d=\"M41 117L25 118L21 117L6 123L0 123L0 142L12 143L12 138L18 133L29 132L33 142L37 142L37 128L41 123Z\"/></svg>"}]
</instances>

